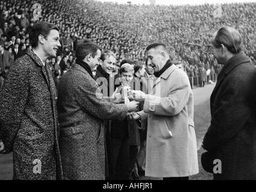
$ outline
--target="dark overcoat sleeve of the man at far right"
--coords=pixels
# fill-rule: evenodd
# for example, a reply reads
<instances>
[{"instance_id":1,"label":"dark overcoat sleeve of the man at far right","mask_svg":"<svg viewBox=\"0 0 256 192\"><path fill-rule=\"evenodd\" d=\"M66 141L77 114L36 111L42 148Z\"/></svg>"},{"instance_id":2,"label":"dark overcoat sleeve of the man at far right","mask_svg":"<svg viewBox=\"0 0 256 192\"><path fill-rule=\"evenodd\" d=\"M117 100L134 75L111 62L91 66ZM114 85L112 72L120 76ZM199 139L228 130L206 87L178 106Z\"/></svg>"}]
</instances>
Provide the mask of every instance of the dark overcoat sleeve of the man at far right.
<instances>
[{"instance_id":1,"label":"dark overcoat sleeve of the man at far right","mask_svg":"<svg viewBox=\"0 0 256 192\"><path fill-rule=\"evenodd\" d=\"M210 127L203 139L207 151L219 148L229 142L242 130L251 115L251 98L254 98L255 81L248 82L245 76L234 77L225 82L220 104L212 113ZM250 88L251 86L251 88ZM249 104L251 103L251 104Z\"/></svg>"}]
</instances>

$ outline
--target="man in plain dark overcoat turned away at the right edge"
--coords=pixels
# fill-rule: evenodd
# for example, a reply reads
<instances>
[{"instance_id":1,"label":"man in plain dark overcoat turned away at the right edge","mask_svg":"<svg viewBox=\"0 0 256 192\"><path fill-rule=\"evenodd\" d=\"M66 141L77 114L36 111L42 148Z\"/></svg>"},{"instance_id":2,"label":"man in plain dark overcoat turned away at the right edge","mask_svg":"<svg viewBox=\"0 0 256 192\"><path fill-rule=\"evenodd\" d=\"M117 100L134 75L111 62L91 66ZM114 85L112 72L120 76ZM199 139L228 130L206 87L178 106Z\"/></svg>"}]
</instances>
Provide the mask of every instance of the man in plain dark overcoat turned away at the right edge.
<instances>
[{"instance_id":1,"label":"man in plain dark overcoat turned away at the right edge","mask_svg":"<svg viewBox=\"0 0 256 192\"><path fill-rule=\"evenodd\" d=\"M203 140L212 162L202 163L213 165L214 179L256 179L256 69L241 42L229 27L212 38L213 54L224 67L210 98L212 120Z\"/></svg>"}]
</instances>

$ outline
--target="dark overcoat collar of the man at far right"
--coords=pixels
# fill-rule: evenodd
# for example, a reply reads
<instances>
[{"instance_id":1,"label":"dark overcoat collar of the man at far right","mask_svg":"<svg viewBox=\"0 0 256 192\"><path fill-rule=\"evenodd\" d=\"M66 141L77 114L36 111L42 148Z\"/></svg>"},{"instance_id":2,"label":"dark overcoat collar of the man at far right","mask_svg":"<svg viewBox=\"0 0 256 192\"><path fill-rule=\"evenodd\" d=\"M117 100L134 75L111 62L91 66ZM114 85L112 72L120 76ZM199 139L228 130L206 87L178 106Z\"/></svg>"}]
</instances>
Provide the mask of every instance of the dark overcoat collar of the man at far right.
<instances>
[{"instance_id":1,"label":"dark overcoat collar of the man at far right","mask_svg":"<svg viewBox=\"0 0 256 192\"><path fill-rule=\"evenodd\" d=\"M237 65L242 64L244 62L250 62L251 59L245 55L244 52L237 53L232 58L230 58L227 62L227 64L224 65L224 67L221 70L221 73L219 74L219 79L221 79L222 76L227 75L232 71Z\"/></svg>"}]
</instances>

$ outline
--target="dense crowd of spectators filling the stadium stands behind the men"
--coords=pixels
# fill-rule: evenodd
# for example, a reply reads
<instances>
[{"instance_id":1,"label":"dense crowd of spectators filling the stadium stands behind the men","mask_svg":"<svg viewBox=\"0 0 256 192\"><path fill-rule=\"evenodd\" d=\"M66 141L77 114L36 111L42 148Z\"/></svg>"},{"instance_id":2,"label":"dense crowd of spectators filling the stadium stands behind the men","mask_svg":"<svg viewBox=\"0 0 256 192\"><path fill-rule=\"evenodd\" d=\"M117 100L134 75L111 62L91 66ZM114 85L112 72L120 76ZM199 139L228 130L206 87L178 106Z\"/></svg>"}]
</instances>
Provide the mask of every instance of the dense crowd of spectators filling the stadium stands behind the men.
<instances>
[{"instance_id":1,"label":"dense crowd of spectators filling the stadium stands behind the men","mask_svg":"<svg viewBox=\"0 0 256 192\"><path fill-rule=\"evenodd\" d=\"M38 6L39 5L39 6ZM214 11L221 6L221 17ZM102 49L124 58L144 61L145 47L160 41L169 47L174 62L182 63L188 76L200 68L218 73L221 67L209 50L213 31L233 26L242 34L243 48L256 61L256 3L204 5L128 5L92 0L0 1L0 37L13 60L31 49L29 30L34 22L46 21L59 27L62 63L59 77L74 62L79 41L89 39ZM17 51L18 50L18 51ZM70 60L71 59L71 60ZM54 67L55 68L55 67ZM59 69L60 68L60 69Z\"/></svg>"}]
</instances>

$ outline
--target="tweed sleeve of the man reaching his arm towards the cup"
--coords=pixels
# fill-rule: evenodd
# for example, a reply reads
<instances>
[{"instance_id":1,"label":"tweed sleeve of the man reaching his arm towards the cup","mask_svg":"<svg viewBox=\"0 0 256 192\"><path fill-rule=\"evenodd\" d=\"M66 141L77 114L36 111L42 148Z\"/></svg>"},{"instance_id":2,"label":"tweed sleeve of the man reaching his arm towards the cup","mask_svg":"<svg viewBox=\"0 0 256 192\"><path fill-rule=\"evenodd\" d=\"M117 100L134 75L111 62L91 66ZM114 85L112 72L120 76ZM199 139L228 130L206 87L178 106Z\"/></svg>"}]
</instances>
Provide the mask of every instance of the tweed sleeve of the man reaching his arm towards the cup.
<instances>
[{"instance_id":1,"label":"tweed sleeve of the man reaching his arm towards the cup","mask_svg":"<svg viewBox=\"0 0 256 192\"><path fill-rule=\"evenodd\" d=\"M123 120L126 118L126 104L115 104L106 101L93 79L88 81L82 79L76 89L75 97L84 111L99 119Z\"/></svg>"}]
</instances>

